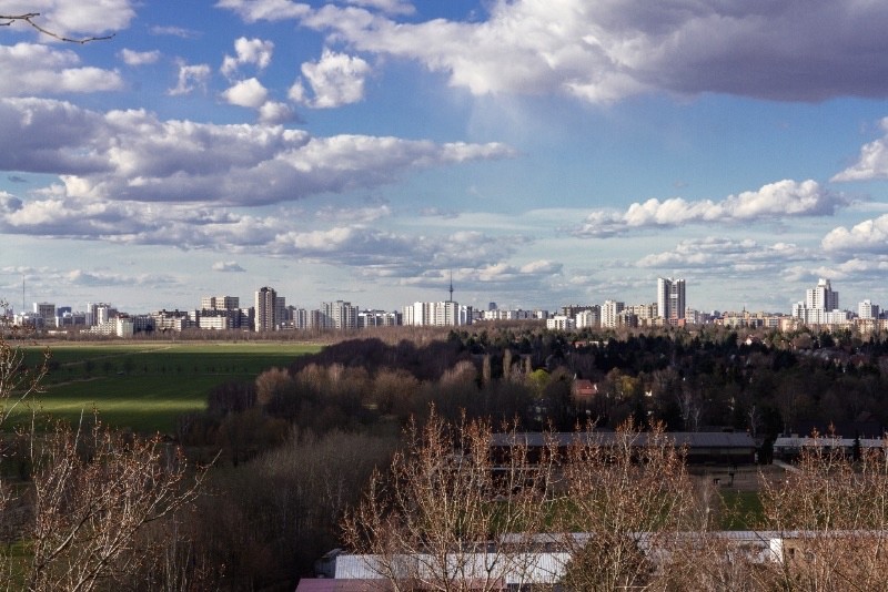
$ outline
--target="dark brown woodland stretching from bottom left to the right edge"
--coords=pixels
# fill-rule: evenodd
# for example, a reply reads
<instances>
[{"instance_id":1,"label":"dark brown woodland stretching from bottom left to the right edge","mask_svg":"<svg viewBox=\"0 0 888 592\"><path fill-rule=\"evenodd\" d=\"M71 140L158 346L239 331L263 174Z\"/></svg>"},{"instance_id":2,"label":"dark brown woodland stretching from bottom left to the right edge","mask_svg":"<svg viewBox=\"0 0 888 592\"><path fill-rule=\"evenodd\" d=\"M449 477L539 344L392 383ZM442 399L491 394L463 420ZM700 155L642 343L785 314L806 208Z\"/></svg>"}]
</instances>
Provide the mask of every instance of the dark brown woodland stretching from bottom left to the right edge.
<instances>
[{"instance_id":1,"label":"dark brown woodland stretching from bottom left to the right edge","mask_svg":"<svg viewBox=\"0 0 888 592\"><path fill-rule=\"evenodd\" d=\"M575 379L597 385L572 397ZM519 430L594 423L667 431L780 432L888 425L888 340L718 327L558 333L538 325L380 330L208 395L174 437L200 496L139 531L144 552L117 589L292 590L343 543L343 517L374 469L435 410ZM845 428L847 426L847 428ZM867 430L869 432L867 432ZM180 481L182 474L176 477Z\"/></svg>"}]
</instances>

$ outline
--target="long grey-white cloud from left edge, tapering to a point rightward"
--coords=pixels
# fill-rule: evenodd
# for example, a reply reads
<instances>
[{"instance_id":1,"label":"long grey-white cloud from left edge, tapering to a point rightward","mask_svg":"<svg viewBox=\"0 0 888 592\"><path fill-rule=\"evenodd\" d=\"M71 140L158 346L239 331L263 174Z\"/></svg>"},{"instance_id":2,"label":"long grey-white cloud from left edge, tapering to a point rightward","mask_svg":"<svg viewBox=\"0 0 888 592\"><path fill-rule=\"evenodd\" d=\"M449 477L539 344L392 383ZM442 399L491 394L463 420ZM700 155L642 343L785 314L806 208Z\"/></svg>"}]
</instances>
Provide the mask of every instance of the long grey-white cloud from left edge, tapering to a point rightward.
<instances>
[{"instance_id":1,"label":"long grey-white cloud from left edge, tapering to a point rightward","mask_svg":"<svg viewBox=\"0 0 888 592\"><path fill-rule=\"evenodd\" d=\"M314 137L280 125L162 121L143 110L102 114L41 99L0 99L0 136L20 139L0 145L0 170L60 173L64 195L93 201L272 204L514 155L498 143Z\"/></svg>"}]
</instances>

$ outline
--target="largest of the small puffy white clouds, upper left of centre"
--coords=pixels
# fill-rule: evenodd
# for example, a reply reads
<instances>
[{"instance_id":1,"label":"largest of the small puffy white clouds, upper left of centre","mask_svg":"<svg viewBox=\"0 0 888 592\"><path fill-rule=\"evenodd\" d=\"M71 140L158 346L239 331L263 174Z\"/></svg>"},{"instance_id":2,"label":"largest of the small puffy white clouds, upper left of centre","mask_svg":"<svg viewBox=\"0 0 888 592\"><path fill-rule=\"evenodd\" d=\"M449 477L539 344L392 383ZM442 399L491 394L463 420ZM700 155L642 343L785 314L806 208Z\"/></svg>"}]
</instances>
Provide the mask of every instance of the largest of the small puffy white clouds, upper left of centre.
<instances>
[{"instance_id":1,"label":"largest of the small puffy white clouds, upper left of centre","mask_svg":"<svg viewBox=\"0 0 888 592\"><path fill-rule=\"evenodd\" d=\"M314 109L356 103L364 99L364 80L370 72L370 64L361 58L325 49L321 60L302 64L313 98L306 96L302 81L296 80L290 89L290 99Z\"/></svg>"}]
</instances>

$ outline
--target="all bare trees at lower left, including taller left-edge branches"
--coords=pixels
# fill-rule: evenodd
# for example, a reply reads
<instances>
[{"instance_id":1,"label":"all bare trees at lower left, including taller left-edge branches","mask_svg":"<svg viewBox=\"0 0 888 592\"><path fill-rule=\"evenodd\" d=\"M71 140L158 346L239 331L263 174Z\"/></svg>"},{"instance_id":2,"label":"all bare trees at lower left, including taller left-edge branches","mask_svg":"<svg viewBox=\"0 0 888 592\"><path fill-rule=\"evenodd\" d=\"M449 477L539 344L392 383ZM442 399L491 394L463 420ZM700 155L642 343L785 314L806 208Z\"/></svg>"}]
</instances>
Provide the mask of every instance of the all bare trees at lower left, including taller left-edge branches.
<instances>
[{"instance_id":1,"label":"all bare trees at lower left, including taller left-edge branches","mask_svg":"<svg viewBox=\"0 0 888 592\"><path fill-rule=\"evenodd\" d=\"M168 542L147 533L195 499L204 473L159 437L95 418L40 426L32 397L48 359L28 368L0 338L0 588L179 588L174 570L152 569L171 565L162 561ZM28 417L24 407L30 423L12 429L11 414Z\"/></svg>"}]
</instances>

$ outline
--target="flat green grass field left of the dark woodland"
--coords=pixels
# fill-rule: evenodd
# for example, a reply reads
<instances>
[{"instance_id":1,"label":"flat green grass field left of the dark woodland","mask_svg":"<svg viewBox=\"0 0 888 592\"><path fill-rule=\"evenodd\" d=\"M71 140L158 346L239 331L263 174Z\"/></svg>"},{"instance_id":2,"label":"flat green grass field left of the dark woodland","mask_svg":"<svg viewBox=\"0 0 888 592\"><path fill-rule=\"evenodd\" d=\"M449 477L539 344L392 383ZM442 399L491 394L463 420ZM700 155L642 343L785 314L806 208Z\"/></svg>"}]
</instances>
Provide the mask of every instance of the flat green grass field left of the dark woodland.
<instances>
[{"instance_id":1,"label":"flat green grass field left of the dark woodland","mask_svg":"<svg viewBox=\"0 0 888 592\"><path fill-rule=\"evenodd\" d=\"M319 345L268 341L58 344L39 396L42 411L69 421L95 408L100 419L140 432L172 432L176 418L206 406L228 380L252 380ZM36 364L43 346L22 347Z\"/></svg>"}]
</instances>

